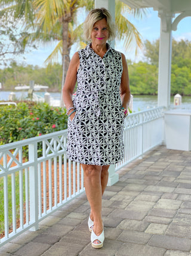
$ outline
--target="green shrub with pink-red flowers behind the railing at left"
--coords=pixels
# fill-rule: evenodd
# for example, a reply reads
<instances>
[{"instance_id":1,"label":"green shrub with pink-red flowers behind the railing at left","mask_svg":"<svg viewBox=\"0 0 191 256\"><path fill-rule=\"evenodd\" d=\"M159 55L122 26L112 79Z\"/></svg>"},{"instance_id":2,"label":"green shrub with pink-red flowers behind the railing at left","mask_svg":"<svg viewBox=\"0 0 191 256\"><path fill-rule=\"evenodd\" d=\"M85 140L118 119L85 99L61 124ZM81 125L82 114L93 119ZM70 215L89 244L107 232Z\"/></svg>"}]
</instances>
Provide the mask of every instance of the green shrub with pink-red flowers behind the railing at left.
<instances>
[{"instance_id":1,"label":"green shrub with pink-red flowers behind the railing at left","mask_svg":"<svg viewBox=\"0 0 191 256\"><path fill-rule=\"evenodd\" d=\"M0 106L0 145L66 128L66 109L61 107L29 101Z\"/></svg>"}]
</instances>

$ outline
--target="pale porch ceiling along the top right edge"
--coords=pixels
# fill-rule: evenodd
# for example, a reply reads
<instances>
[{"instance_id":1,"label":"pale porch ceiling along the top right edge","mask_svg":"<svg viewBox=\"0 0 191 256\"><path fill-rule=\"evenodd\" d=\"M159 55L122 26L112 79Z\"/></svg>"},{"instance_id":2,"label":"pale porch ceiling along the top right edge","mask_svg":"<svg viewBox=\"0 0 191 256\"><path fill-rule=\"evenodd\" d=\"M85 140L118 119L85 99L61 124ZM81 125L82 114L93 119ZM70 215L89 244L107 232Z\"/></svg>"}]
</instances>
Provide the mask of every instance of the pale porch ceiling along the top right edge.
<instances>
[{"instance_id":1,"label":"pale porch ceiling along the top right edge","mask_svg":"<svg viewBox=\"0 0 191 256\"><path fill-rule=\"evenodd\" d=\"M182 13L191 11L190 0L122 0L131 8L153 8L153 10L165 10L167 13Z\"/></svg>"}]
</instances>

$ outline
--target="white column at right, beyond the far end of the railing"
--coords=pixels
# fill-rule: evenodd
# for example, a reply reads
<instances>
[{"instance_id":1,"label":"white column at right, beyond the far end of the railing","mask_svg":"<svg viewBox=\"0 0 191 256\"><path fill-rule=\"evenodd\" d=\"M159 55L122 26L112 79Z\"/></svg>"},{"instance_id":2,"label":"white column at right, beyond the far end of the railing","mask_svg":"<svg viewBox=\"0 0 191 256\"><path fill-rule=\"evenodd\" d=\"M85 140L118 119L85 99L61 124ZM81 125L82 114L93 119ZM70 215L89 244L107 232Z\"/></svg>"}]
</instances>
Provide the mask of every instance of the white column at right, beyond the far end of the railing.
<instances>
[{"instance_id":1,"label":"white column at right, beyond the far end of the railing","mask_svg":"<svg viewBox=\"0 0 191 256\"><path fill-rule=\"evenodd\" d=\"M171 96L171 55L172 55L172 15L159 12L161 36L159 46L158 106L170 106Z\"/></svg>"}]
</instances>

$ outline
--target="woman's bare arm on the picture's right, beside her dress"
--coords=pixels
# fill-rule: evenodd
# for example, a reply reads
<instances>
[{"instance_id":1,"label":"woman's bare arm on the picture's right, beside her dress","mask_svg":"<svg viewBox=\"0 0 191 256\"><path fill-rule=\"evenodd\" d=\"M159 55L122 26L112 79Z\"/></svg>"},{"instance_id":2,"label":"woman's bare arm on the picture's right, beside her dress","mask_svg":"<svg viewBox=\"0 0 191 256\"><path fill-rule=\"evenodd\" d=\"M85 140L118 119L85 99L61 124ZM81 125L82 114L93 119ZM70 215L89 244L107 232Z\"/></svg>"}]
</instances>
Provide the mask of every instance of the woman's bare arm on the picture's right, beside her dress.
<instances>
[{"instance_id":1,"label":"woman's bare arm on the picture's right, beside her dress","mask_svg":"<svg viewBox=\"0 0 191 256\"><path fill-rule=\"evenodd\" d=\"M121 77L121 103L124 109L128 109L131 100L131 92L130 92L130 82L128 76L128 67L125 55L122 53L122 65L123 65L123 72Z\"/></svg>"}]
</instances>

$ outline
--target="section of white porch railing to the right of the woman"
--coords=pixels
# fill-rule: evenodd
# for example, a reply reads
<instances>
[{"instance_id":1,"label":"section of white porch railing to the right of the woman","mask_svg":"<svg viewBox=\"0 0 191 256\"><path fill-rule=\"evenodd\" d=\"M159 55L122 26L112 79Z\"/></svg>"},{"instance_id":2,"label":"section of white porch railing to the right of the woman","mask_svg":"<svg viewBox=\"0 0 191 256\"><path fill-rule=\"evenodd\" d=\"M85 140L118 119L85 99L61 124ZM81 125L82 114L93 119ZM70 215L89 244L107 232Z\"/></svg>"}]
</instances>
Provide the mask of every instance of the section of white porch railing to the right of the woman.
<instances>
[{"instance_id":1,"label":"section of white porch railing to the right of the woman","mask_svg":"<svg viewBox=\"0 0 191 256\"><path fill-rule=\"evenodd\" d=\"M116 170L164 142L164 107L133 113L125 119L124 160Z\"/></svg>"}]
</instances>

